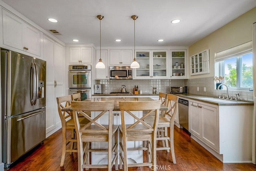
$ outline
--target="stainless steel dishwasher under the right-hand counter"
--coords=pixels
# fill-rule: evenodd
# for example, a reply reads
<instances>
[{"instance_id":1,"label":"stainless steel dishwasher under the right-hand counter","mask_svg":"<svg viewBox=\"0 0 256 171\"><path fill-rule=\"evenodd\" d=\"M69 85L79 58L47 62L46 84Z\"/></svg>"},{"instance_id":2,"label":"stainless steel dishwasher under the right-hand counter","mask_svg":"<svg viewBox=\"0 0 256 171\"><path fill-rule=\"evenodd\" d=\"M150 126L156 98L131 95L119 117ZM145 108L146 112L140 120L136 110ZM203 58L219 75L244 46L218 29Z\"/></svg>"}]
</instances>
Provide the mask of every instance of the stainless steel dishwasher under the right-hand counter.
<instances>
[{"instance_id":1,"label":"stainless steel dishwasher under the right-hand counter","mask_svg":"<svg viewBox=\"0 0 256 171\"><path fill-rule=\"evenodd\" d=\"M180 125L188 131L188 100L179 99L178 107Z\"/></svg>"}]
</instances>

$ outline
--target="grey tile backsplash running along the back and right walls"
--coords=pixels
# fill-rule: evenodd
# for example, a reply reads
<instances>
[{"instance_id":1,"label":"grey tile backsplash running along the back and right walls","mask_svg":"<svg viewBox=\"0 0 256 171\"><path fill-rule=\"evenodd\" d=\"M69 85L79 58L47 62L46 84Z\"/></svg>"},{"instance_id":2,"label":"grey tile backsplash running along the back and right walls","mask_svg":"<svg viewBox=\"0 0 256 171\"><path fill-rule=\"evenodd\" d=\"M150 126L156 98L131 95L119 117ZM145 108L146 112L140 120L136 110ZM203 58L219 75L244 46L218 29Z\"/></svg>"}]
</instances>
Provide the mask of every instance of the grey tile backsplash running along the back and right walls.
<instances>
[{"instance_id":1,"label":"grey tile backsplash running along the back and right walls","mask_svg":"<svg viewBox=\"0 0 256 171\"><path fill-rule=\"evenodd\" d=\"M133 92L134 85L138 85L139 90L142 90L144 94L152 94L153 87L157 88L157 92L170 93L170 87L175 86L188 86L188 93L191 94L211 97L226 94L226 87L216 90L213 77L188 80L97 80L96 84L103 84L103 93L118 92L122 85L126 86L126 91ZM199 91L197 91L197 87L199 87ZM204 91L204 87L206 91ZM228 92L230 95L239 93L238 100L253 101L253 91L228 90Z\"/></svg>"}]
</instances>

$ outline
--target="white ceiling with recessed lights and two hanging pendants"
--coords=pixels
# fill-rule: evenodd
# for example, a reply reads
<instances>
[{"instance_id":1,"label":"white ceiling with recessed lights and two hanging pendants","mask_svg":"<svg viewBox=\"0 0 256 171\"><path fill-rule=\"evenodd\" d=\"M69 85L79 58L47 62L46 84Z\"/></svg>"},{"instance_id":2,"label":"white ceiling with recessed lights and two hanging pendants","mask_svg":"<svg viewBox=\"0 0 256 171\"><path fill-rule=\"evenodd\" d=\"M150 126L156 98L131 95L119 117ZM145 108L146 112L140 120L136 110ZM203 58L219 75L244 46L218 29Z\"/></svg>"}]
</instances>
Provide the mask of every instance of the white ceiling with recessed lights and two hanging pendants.
<instances>
[{"instance_id":1,"label":"white ceiling with recessed lights and two hanging pendants","mask_svg":"<svg viewBox=\"0 0 256 171\"><path fill-rule=\"evenodd\" d=\"M2 0L66 44L190 46L256 6L256 0ZM57 23L47 19L55 18ZM180 19L178 24L171 24ZM79 42L73 42L78 39ZM115 42L121 39L121 42ZM164 42L157 42L164 39Z\"/></svg>"}]
</instances>

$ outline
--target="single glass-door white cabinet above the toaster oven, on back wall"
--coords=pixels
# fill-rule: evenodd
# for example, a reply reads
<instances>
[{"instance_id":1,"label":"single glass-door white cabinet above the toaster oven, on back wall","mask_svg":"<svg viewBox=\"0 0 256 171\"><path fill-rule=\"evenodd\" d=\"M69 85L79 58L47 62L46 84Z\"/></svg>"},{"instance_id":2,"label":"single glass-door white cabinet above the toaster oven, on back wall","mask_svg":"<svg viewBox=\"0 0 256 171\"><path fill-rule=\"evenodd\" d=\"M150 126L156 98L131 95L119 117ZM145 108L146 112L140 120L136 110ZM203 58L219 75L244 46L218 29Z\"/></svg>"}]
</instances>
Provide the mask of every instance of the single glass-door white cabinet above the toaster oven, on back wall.
<instances>
[{"instance_id":1,"label":"single glass-door white cabinet above the toaster oven, on back wall","mask_svg":"<svg viewBox=\"0 0 256 171\"><path fill-rule=\"evenodd\" d=\"M186 73L186 50L170 50L170 78L173 79L185 79L187 78Z\"/></svg>"}]
</instances>

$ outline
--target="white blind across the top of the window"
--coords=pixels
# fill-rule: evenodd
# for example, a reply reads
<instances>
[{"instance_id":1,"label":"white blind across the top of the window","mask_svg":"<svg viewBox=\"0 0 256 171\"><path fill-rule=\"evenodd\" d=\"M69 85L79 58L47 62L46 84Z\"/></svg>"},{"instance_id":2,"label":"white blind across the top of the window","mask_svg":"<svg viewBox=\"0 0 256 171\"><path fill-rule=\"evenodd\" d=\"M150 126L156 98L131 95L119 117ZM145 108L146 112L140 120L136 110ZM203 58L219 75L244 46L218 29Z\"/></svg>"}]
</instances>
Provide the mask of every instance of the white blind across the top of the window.
<instances>
[{"instance_id":1,"label":"white blind across the top of the window","mask_svg":"<svg viewBox=\"0 0 256 171\"><path fill-rule=\"evenodd\" d=\"M215 62L252 52L252 41L215 53Z\"/></svg>"}]
</instances>

